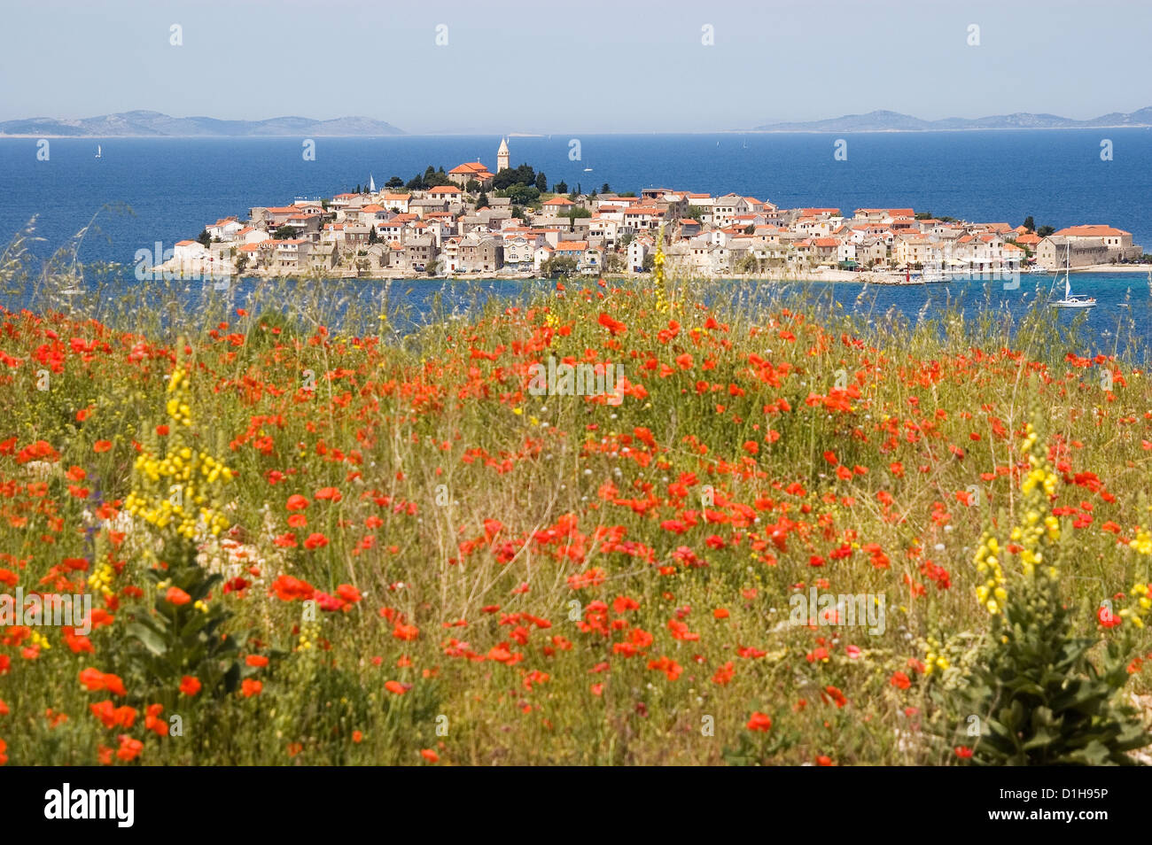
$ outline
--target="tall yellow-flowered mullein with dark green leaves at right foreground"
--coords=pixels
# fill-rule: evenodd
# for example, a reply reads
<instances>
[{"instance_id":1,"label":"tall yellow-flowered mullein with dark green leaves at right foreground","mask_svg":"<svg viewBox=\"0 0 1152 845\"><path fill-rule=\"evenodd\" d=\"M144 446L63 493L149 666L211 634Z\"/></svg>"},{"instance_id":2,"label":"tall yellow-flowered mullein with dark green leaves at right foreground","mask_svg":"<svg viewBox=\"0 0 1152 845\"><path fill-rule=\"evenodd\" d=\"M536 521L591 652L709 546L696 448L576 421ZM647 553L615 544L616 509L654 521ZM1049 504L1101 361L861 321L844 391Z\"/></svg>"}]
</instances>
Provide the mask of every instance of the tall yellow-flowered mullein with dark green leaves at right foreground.
<instances>
[{"instance_id":1,"label":"tall yellow-flowered mullein with dark green leaves at right foreground","mask_svg":"<svg viewBox=\"0 0 1152 845\"><path fill-rule=\"evenodd\" d=\"M1018 520L1007 542L985 533L976 554L985 579L977 597L992 625L967 683L941 694L949 726L945 736L955 743L957 758L980 766L1135 764L1128 752L1152 737L1120 700L1134 646L1130 627L1107 638L1098 661L1091 652L1101 634L1074 630L1074 610L1060 592L1068 534L1052 509L1059 475L1038 435L1040 414L1032 417L1021 443L1029 470L1021 482ZM1146 591L1147 585L1137 585L1136 592ZM1126 611L1136 627L1146 612L1138 607L1136 616ZM1108 629L1121 624L1111 607L1100 610L1099 619ZM947 660L930 654L929 664L945 669Z\"/></svg>"}]
</instances>

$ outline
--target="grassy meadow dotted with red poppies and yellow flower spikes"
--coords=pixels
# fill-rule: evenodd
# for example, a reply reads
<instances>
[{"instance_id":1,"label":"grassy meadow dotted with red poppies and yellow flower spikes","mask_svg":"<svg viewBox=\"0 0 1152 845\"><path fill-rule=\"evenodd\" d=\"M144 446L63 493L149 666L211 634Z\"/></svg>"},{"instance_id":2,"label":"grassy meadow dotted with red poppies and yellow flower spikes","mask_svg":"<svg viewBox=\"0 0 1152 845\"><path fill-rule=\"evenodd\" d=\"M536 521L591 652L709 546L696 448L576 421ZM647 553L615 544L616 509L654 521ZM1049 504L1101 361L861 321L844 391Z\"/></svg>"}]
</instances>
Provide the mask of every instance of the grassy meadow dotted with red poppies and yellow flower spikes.
<instances>
[{"instance_id":1,"label":"grassy meadow dotted with red poppies and yellow flower spikes","mask_svg":"<svg viewBox=\"0 0 1152 845\"><path fill-rule=\"evenodd\" d=\"M1144 761L1152 385L1051 314L262 302L0 313L0 588L91 596L0 761Z\"/></svg>"}]
</instances>

